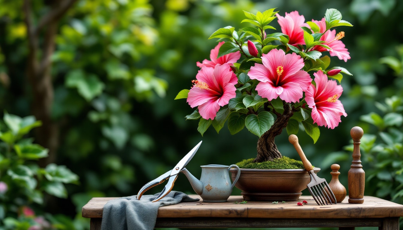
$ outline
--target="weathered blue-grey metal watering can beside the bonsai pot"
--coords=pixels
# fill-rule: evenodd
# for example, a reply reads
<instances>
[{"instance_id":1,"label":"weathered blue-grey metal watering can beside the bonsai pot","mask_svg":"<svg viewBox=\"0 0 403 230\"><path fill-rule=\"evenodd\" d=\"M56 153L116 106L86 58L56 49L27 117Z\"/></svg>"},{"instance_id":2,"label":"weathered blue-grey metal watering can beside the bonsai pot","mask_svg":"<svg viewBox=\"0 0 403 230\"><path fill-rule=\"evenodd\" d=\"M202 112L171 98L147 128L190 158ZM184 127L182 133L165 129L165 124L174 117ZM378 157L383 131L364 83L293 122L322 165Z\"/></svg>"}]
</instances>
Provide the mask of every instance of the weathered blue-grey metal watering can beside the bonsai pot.
<instances>
[{"instance_id":1,"label":"weathered blue-grey metal watering can beside the bonsai pot","mask_svg":"<svg viewBox=\"0 0 403 230\"><path fill-rule=\"evenodd\" d=\"M230 166L221 164L209 164L202 167L200 180L195 178L186 168L183 172L189 180L193 190L202 197L205 202L225 202L232 193L235 183L238 181L241 170L235 164ZM237 176L231 184L229 170L237 168Z\"/></svg>"}]
</instances>

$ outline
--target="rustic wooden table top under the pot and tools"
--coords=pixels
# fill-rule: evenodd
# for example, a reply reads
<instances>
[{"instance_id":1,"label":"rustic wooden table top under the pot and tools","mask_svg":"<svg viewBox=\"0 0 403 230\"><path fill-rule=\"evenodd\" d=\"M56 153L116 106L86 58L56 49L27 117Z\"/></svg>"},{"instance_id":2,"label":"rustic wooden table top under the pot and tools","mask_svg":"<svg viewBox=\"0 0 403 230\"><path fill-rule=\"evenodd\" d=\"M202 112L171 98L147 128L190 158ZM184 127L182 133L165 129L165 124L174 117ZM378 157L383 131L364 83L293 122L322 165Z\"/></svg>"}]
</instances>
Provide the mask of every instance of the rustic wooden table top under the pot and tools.
<instances>
[{"instance_id":1,"label":"rustic wooden table top under the pot and tools","mask_svg":"<svg viewBox=\"0 0 403 230\"><path fill-rule=\"evenodd\" d=\"M182 202L158 209L157 218L387 218L403 216L403 205L377 197L364 196L364 203L348 203L348 196L336 205L317 205L312 196L301 196L298 201L243 201L242 196L231 196L227 202L203 202L198 195L189 195L200 201ZM102 218L106 202L117 197L94 197L82 209L85 218ZM308 203L298 206L297 202Z\"/></svg>"}]
</instances>

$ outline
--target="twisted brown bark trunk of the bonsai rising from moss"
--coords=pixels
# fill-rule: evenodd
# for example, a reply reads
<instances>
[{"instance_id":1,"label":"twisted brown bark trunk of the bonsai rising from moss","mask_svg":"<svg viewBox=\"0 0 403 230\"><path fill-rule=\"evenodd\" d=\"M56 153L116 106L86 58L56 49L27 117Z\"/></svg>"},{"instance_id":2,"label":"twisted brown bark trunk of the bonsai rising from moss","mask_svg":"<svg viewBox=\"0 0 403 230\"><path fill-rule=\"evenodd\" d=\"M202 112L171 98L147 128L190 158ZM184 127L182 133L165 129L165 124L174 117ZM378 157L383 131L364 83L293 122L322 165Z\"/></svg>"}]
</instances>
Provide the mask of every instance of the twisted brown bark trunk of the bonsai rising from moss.
<instances>
[{"instance_id":1,"label":"twisted brown bark trunk of the bonsai rising from moss","mask_svg":"<svg viewBox=\"0 0 403 230\"><path fill-rule=\"evenodd\" d=\"M288 120L294 114L290 104L286 103L283 108L283 114L276 114L277 119L272 127L260 136L258 140L258 155L253 162L265 162L281 158L281 153L278 151L277 146L274 143L274 137L281 134L283 128L287 127Z\"/></svg>"}]
</instances>

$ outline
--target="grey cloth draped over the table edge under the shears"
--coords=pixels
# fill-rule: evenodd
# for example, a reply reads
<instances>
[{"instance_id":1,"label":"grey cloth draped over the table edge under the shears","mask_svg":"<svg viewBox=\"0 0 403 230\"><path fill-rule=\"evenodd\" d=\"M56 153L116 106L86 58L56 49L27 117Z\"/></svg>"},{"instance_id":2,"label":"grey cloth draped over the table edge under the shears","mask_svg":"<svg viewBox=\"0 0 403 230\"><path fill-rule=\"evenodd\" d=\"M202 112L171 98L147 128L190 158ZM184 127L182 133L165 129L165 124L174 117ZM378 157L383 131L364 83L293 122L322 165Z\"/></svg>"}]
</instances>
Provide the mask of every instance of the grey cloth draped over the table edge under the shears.
<instances>
[{"instance_id":1,"label":"grey cloth draped over the table edge under the shears","mask_svg":"<svg viewBox=\"0 0 403 230\"><path fill-rule=\"evenodd\" d=\"M101 230L150 230L154 229L158 207L174 205L179 202L199 201L185 193L170 191L168 195L156 202L155 195L144 195L137 200L137 195L120 197L108 201L102 212Z\"/></svg>"}]
</instances>

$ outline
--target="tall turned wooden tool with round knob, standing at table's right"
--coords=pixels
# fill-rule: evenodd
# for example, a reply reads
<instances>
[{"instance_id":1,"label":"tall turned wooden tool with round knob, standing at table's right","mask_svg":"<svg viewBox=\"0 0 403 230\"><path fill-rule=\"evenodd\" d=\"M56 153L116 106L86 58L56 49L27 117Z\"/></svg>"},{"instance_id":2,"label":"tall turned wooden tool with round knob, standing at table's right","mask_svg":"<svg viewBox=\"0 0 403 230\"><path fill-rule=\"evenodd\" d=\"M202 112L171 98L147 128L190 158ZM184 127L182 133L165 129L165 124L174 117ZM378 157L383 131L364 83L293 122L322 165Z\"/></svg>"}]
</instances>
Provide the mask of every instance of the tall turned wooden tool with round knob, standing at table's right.
<instances>
[{"instance_id":1,"label":"tall turned wooden tool with round knob, standing at table's right","mask_svg":"<svg viewBox=\"0 0 403 230\"><path fill-rule=\"evenodd\" d=\"M353 161L348 173L349 203L361 204L364 203L365 172L361 165L359 145L364 131L361 127L355 126L351 128L350 135L353 139L354 150Z\"/></svg>"}]
</instances>

